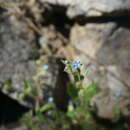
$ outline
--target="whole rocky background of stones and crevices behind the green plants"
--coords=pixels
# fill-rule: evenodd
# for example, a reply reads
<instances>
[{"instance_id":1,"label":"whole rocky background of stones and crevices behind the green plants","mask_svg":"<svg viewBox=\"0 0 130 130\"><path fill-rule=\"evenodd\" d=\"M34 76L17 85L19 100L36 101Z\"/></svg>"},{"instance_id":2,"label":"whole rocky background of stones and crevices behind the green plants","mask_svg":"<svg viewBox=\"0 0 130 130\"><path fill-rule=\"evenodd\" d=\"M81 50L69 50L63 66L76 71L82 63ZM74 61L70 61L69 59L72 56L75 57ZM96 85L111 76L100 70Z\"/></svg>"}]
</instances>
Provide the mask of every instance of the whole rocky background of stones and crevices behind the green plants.
<instances>
[{"instance_id":1,"label":"whole rocky background of stones and crevices behind the green plants","mask_svg":"<svg viewBox=\"0 0 130 130\"><path fill-rule=\"evenodd\" d=\"M33 61L39 59L52 68L47 74L50 89L43 92L65 91L61 84L69 79L58 67L62 66L59 59L78 58L91 70L85 82L94 80L102 88L92 100L97 115L115 120L112 106L118 104L128 117L129 19L130 0L0 0L0 97L5 94L10 103L15 99L23 107L31 107L30 101L17 95L23 91L25 79L32 81L36 69ZM3 88L5 81L11 90ZM57 98L57 102L65 101Z\"/></svg>"}]
</instances>

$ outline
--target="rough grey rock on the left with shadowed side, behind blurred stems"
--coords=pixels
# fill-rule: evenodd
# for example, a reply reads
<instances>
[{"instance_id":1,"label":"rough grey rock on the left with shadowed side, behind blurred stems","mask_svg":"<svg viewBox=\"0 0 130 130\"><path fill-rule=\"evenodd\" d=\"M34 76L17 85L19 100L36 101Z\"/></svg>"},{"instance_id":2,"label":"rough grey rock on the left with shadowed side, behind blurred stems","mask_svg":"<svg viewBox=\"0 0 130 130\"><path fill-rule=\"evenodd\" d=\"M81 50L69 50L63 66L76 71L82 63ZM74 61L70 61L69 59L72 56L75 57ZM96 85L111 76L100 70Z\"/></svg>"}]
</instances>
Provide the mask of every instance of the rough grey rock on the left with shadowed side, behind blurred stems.
<instances>
[{"instance_id":1,"label":"rough grey rock on the left with shadowed side, behind blurred stems","mask_svg":"<svg viewBox=\"0 0 130 130\"><path fill-rule=\"evenodd\" d=\"M50 36L49 33L47 35ZM30 98L22 100L18 95L24 91L24 80L33 82L32 77L36 75L34 60L38 56L38 49L34 33L26 24L12 16L0 21L0 39L0 83L8 81L11 84L11 88L4 88L1 85L1 90L23 105L32 107L33 101ZM54 97L56 104L60 104L58 107L65 109L68 103L66 83L69 79L63 72L64 65L61 59L54 57L48 57L46 64L49 68L41 78L44 84L37 94L45 101L49 97ZM62 96L64 98L61 98Z\"/></svg>"}]
</instances>

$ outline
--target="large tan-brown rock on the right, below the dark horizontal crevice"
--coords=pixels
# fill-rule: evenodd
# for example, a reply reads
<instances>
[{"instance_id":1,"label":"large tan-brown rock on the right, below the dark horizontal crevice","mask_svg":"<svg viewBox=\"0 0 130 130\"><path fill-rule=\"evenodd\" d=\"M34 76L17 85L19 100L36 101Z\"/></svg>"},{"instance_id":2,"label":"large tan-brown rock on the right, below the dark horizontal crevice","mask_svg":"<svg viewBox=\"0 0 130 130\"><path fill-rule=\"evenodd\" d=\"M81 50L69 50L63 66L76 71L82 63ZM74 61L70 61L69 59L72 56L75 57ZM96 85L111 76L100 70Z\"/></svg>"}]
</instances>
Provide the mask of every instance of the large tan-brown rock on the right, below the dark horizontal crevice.
<instances>
[{"instance_id":1,"label":"large tan-brown rock on the right, below the dark horizontal crevice","mask_svg":"<svg viewBox=\"0 0 130 130\"><path fill-rule=\"evenodd\" d=\"M127 27L127 28L126 28ZM71 30L71 44L78 56L90 66L86 81L94 80L103 91L94 97L98 115L114 119L114 105L121 106L125 116L130 115L130 29L129 22L87 23ZM123 105L124 104L124 105Z\"/></svg>"}]
</instances>

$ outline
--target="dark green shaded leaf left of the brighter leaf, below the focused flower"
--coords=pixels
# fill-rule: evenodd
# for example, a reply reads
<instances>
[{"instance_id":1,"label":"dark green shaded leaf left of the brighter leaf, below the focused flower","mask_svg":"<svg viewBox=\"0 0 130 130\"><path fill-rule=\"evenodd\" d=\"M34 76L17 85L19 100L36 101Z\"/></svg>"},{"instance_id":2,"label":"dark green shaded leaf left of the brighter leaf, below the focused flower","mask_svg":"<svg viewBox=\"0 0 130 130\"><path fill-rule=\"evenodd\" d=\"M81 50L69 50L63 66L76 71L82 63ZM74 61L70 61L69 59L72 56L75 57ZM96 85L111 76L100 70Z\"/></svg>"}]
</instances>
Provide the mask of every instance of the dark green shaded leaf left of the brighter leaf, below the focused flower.
<instances>
[{"instance_id":1,"label":"dark green shaded leaf left of the brighter leaf, below the focused flower","mask_svg":"<svg viewBox=\"0 0 130 130\"><path fill-rule=\"evenodd\" d=\"M78 91L79 91L79 89L76 88L75 84L73 84L73 83L68 84L67 92L70 97L72 97L72 98L78 97Z\"/></svg>"}]
</instances>

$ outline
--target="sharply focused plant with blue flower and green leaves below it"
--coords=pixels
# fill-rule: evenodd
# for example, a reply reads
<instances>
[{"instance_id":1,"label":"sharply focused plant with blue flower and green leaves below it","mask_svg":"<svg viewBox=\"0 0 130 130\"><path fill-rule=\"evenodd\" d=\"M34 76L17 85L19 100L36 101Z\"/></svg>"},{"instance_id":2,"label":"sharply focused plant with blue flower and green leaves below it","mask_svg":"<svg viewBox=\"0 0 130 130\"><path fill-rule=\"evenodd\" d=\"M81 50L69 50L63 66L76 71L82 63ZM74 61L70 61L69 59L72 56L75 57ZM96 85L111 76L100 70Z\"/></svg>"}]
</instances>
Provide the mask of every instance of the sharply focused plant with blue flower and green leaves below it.
<instances>
[{"instance_id":1,"label":"sharply focused plant with blue flower and green leaves below it","mask_svg":"<svg viewBox=\"0 0 130 130\"><path fill-rule=\"evenodd\" d=\"M68 94L71 97L67 116L71 118L72 123L81 126L81 129L92 126L98 126L93 119L90 100L100 91L96 83L83 84L83 80L88 73L88 68L79 61L63 61L66 65L65 71L72 76L73 81L68 83ZM96 130L96 129L95 129Z\"/></svg>"}]
</instances>

